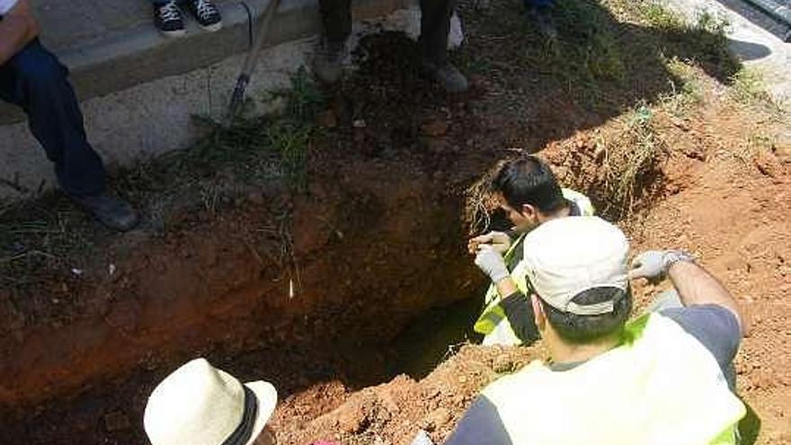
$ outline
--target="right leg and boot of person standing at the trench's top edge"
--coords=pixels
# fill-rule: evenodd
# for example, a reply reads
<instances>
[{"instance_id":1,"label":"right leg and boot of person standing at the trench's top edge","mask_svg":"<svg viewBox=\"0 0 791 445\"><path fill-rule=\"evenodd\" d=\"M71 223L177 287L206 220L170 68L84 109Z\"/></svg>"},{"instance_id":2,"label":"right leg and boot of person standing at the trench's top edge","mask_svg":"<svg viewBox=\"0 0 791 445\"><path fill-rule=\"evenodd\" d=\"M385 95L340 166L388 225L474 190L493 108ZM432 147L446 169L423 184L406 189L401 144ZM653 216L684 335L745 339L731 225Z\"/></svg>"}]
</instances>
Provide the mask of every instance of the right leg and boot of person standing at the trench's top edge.
<instances>
[{"instance_id":1,"label":"right leg and boot of person standing at the trench's top edge","mask_svg":"<svg viewBox=\"0 0 791 445\"><path fill-rule=\"evenodd\" d=\"M445 91L467 91L467 78L448 61L450 17L456 8L456 0L421 0L420 5L423 68Z\"/></svg>"}]
</instances>

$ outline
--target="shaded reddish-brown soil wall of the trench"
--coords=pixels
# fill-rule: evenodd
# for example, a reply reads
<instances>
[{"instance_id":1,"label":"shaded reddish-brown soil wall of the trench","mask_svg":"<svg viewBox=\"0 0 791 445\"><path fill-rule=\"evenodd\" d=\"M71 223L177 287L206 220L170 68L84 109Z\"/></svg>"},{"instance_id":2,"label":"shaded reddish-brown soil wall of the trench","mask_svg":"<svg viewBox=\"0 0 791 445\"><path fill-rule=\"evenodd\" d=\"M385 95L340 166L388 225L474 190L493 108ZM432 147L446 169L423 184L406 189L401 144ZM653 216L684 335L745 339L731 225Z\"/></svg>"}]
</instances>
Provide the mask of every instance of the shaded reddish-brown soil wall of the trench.
<instances>
[{"instance_id":1,"label":"shaded reddish-brown soil wall of the trench","mask_svg":"<svg viewBox=\"0 0 791 445\"><path fill-rule=\"evenodd\" d=\"M183 215L164 236L114 237L78 279L52 284L47 307L4 304L4 411L204 354L263 348L272 363L331 366L481 284L461 193L437 165L317 157L307 193L254 192L213 216Z\"/></svg>"}]
</instances>

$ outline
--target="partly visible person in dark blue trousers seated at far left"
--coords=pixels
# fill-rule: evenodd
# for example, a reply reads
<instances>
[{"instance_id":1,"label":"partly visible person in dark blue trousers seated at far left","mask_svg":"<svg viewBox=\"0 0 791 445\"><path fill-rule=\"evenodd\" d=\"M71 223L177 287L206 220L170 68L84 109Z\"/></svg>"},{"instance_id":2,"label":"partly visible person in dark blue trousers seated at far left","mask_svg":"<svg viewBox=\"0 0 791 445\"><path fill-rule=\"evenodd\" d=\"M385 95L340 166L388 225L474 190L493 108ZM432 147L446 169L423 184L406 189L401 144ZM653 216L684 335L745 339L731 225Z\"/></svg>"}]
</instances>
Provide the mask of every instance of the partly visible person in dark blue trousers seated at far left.
<instances>
[{"instance_id":1,"label":"partly visible person in dark blue trousers seated at far left","mask_svg":"<svg viewBox=\"0 0 791 445\"><path fill-rule=\"evenodd\" d=\"M68 70L38 36L28 0L0 0L0 98L25 111L67 195L105 226L129 230L138 213L107 191L102 158L85 138Z\"/></svg>"}]
</instances>

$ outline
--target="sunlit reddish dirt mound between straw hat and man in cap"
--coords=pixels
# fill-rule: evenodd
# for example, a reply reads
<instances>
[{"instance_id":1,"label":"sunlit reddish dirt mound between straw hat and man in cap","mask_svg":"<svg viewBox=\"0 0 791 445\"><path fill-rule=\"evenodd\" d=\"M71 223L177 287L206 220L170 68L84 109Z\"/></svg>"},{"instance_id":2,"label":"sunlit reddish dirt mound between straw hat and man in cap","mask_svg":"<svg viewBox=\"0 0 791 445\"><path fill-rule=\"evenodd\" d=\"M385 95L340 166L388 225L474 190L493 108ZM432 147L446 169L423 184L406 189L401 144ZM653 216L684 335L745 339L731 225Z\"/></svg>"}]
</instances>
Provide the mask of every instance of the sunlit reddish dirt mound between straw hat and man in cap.
<instances>
[{"instance_id":1,"label":"sunlit reddish dirt mound between straw hat and man in cap","mask_svg":"<svg viewBox=\"0 0 791 445\"><path fill-rule=\"evenodd\" d=\"M441 443L481 388L538 357L541 352L536 348L463 346L420 381L399 376L343 395L342 405L319 416L305 415L302 409L317 405L315 393L289 397L278 408L272 426L279 443L288 444L322 440L345 445L408 444L420 429Z\"/></svg>"}]
</instances>

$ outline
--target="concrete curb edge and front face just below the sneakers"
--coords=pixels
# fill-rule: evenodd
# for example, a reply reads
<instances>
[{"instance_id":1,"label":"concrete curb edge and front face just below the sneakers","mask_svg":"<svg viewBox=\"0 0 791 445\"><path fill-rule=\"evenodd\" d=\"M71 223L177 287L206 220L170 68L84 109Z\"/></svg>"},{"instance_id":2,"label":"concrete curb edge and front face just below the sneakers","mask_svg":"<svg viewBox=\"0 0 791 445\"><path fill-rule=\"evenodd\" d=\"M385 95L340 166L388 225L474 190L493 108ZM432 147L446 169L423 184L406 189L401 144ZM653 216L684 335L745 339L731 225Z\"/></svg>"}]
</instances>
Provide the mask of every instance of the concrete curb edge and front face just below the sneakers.
<instances>
[{"instance_id":1,"label":"concrete curb edge and front face just below the sneakers","mask_svg":"<svg viewBox=\"0 0 791 445\"><path fill-rule=\"evenodd\" d=\"M222 4L224 26L217 32L202 32L195 23L187 22L187 35L172 39L160 35L147 22L84 46L57 51L58 57L71 70L71 82L84 101L209 67L244 52L251 44L251 17L257 21L269 3L270 0L244 0ZM410 0L357 0L355 20L390 13L411 3ZM273 19L267 46L320 31L317 0L286 0ZM0 125L21 120L24 120L21 111L0 102Z\"/></svg>"}]
</instances>

